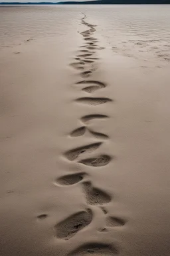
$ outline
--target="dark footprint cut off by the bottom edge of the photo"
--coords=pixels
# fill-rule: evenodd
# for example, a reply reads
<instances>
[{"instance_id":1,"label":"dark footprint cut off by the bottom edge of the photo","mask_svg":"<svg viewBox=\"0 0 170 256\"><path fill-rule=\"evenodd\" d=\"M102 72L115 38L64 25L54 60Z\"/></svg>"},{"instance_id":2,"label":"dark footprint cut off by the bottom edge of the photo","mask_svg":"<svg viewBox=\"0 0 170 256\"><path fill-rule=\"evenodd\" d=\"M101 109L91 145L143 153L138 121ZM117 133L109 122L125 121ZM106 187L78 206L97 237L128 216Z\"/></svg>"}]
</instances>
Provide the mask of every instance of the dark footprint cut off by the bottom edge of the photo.
<instances>
[{"instance_id":1,"label":"dark footprint cut off by the bottom edge of the photo","mask_svg":"<svg viewBox=\"0 0 170 256\"><path fill-rule=\"evenodd\" d=\"M118 248L113 244L85 243L69 253L68 256L113 256L114 254L118 253Z\"/></svg>"}]
</instances>

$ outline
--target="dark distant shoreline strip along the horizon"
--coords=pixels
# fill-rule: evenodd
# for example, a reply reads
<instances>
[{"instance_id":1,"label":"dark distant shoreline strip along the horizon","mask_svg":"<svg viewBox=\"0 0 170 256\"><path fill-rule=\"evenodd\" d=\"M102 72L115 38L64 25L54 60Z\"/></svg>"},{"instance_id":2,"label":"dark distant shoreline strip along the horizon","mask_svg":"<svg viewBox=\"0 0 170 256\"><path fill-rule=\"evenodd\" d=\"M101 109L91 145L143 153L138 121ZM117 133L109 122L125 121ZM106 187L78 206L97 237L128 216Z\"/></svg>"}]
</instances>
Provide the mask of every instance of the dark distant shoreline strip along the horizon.
<instances>
[{"instance_id":1,"label":"dark distant shoreline strip along the horizon","mask_svg":"<svg viewBox=\"0 0 170 256\"><path fill-rule=\"evenodd\" d=\"M170 4L170 0L92 0L92 1L66 1L66 2L0 2L0 5L153 5Z\"/></svg>"}]
</instances>

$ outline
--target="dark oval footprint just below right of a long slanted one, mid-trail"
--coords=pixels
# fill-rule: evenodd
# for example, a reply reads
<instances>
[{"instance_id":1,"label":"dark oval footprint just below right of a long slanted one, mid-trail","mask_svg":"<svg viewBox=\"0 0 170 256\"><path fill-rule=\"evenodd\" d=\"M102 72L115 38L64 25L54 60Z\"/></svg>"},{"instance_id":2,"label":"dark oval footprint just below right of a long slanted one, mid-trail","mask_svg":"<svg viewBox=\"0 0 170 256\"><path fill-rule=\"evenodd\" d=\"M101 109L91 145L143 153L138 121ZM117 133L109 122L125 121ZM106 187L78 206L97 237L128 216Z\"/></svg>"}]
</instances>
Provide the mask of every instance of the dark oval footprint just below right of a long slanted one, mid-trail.
<instances>
[{"instance_id":1,"label":"dark oval footprint just below right of a long slanted one, mid-trail","mask_svg":"<svg viewBox=\"0 0 170 256\"><path fill-rule=\"evenodd\" d=\"M100 167L100 166L108 165L110 161L111 161L111 157L109 155L100 155L98 157L82 159L78 163L83 163L84 165L93 166L93 167Z\"/></svg>"}]
</instances>

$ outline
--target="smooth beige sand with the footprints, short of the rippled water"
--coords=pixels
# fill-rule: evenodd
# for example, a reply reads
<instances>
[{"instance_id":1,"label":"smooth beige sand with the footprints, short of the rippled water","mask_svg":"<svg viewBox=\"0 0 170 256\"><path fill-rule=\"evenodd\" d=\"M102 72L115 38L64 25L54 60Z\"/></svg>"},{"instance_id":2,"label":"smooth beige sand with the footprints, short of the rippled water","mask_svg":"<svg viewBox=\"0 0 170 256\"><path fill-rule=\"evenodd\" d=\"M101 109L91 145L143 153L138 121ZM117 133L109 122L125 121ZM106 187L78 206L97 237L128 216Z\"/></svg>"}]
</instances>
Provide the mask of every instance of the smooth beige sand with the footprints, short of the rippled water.
<instances>
[{"instance_id":1,"label":"smooth beige sand with the footprints, short of the rippled water","mask_svg":"<svg viewBox=\"0 0 170 256\"><path fill-rule=\"evenodd\" d=\"M169 65L90 18L1 50L1 256L169 256Z\"/></svg>"}]
</instances>

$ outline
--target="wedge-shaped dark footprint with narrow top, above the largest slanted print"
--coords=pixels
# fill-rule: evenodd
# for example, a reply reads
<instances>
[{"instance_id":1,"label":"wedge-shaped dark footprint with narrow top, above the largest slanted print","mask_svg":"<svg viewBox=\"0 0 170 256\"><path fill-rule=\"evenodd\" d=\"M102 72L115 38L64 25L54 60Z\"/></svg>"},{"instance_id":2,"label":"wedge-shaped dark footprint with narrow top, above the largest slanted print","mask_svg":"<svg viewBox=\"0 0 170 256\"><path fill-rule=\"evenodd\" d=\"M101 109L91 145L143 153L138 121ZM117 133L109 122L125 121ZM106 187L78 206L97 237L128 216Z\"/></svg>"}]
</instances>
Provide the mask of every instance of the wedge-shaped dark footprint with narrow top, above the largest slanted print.
<instances>
[{"instance_id":1,"label":"wedge-shaped dark footprint with narrow top, above the largest slanted print","mask_svg":"<svg viewBox=\"0 0 170 256\"><path fill-rule=\"evenodd\" d=\"M92 187L90 181L84 181L82 183L82 189L89 205L103 205L111 201L111 197L108 193Z\"/></svg>"}]
</instances>

